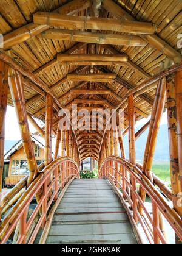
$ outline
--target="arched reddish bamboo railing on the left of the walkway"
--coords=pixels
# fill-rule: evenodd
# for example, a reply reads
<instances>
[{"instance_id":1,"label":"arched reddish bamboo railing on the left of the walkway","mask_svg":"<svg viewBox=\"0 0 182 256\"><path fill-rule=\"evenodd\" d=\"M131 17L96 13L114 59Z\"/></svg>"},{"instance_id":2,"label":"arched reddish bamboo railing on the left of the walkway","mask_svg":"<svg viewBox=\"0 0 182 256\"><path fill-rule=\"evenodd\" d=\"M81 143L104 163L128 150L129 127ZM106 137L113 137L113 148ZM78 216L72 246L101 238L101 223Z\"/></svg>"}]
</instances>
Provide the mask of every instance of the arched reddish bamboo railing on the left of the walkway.
<instances>
[{"instance_id":1,"label":"arched reddish bamboo railing on the left of the walkway","mask_svg":"<svg viewBox=\"0 0 182 256\"><path fill-rule=\"evenodd\" d=\"M53 202L56 204L61 201L67 187L75 178L80 178L78 164L72 158L58 158L39 172L11 208L10 199L21 193L27 178L19 182L2 200L4 202L2 212L6 214L1 221L0 243L12 243L12 236L15 236L16 232L17 244L34 243L41 228L44 230L47 214ZM30 205L35 197L38 198L37 204L31 212ZM17 227L19 227L18 231Z\"/></svg>"}]
</instances>

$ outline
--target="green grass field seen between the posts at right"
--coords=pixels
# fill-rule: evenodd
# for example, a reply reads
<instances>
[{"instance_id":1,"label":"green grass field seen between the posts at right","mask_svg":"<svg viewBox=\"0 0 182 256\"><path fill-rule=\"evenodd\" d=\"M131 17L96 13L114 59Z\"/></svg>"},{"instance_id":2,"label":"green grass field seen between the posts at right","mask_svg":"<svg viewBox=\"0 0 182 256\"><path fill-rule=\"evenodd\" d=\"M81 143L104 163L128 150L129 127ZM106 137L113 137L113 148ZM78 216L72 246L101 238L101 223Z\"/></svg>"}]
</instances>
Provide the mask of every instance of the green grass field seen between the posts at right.
<instances>
[{"instance_id":1,"label":"green grass field seen between the posts at right","mask_svg":"<svg viewBox=\"0 0 182 256\"><path fill-rule=\"evenodd\" d=\"M170 164L167 161L157 161L153 163L152 172L170 186Z\"/></svg>"}]
</instances>

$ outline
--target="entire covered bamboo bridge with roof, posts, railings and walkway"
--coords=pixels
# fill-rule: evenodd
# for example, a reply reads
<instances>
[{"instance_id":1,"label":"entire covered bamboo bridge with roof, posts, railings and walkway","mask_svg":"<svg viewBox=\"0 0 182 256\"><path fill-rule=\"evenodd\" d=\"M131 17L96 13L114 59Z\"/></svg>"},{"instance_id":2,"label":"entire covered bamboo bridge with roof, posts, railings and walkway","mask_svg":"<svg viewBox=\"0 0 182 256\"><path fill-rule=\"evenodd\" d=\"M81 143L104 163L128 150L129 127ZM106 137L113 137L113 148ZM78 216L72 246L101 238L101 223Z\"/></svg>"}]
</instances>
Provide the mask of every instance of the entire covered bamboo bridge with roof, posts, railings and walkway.
<instances>
[{"instance_id":1,"label":"entire covered bamboo bridge with roof, posts, railings and walkway","mask_svg":"<svg viewBox=\"0 0 182 256\"><path fill-rule=\"evenodd\" d=\"M166 226L181 243L181 10L178 0L1 0L0 192L7 105L15 107L29 166L29 176L1 198L1 244L166 244ZM103 118L99 129L96 116L95 129L73 129L73 105L89 113L123 109L123 121L116 118L119 129L109 130ZM59 129L60 110L70 129ZM171 190L152 173L164 110ZM135 132L135 123L148 116ZM45 138L41 166L28 121ZM90 128L90 118L84 124ZM135 141L147 129L140 165ZM98 161L98 179L80 179L88 157Z\"/></svg>"}]
</instances>

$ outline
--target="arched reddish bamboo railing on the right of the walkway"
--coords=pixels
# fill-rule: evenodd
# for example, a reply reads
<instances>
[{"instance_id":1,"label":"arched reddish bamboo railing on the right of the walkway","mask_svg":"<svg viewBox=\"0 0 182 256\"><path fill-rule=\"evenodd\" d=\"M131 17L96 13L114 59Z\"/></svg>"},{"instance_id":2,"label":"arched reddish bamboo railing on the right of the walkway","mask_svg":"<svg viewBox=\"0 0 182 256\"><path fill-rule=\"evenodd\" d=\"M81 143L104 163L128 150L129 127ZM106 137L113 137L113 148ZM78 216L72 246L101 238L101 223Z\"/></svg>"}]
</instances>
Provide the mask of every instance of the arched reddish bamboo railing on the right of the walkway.
<instances>
[{"instance_id":1,"label":"arched reddish bamboo railing on the right of the walkway","mask_svg":"<svg viewBox=\"0 0 182 256\"><path fill-rule=\"evenodd\" d=\"M170 206L169 201L160 193L155 185L150 182L140 169L120 157L108 157L101 165L99 177L107 177L113 184L116 192L120 194L121 200L126 207L129 217L135 227L141 227L150 244L167 244L163 220L169 222L176 235L182 241L182 221L180 216ZM133 189L131 179L134 179L137 186ZM158 186L163 187L163 193L170 199L170 191L164 188L164 184L156 179ZM142 201L137 188L139 185L146 191L152 202L152 214ZM135 203L134 203L135 202ZM139 208L143 211L140 213Z\"/></svg>"}]
</instances>

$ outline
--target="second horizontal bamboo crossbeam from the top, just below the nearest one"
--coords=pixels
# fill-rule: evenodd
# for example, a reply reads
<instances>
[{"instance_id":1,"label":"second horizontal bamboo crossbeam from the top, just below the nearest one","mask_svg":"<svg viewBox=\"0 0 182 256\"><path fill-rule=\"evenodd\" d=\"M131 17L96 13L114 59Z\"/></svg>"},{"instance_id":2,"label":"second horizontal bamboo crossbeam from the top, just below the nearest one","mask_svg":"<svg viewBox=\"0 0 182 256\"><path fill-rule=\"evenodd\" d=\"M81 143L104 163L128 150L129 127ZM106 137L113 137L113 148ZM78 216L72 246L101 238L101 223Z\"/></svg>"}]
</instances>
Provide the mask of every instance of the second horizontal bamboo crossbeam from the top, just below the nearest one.
<instances>
[{"instance_id":1,"label":"second horizontal bamboo crossbeam from the top, just below the nearest one","mask_svg":"<svg viewBox=\"0 0 182 256\"><path fill-rule=\"evenodd\" d=\"M42 37L50 40L69 40L72 42L110 44L123 46L146 46L143 38L137 35L103 34L96 32L81 32L76 30L48 29Z\"/></svg>"}]
</instances>

